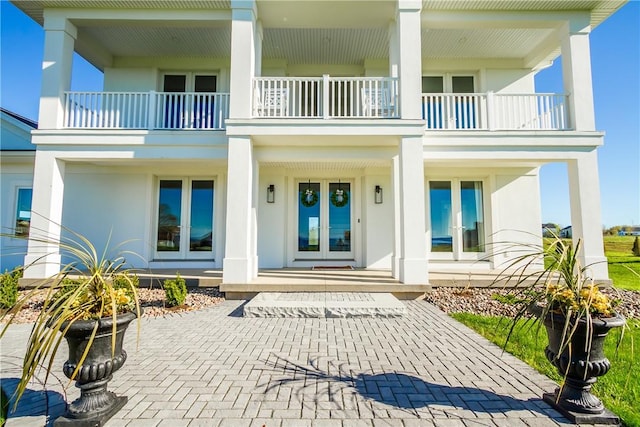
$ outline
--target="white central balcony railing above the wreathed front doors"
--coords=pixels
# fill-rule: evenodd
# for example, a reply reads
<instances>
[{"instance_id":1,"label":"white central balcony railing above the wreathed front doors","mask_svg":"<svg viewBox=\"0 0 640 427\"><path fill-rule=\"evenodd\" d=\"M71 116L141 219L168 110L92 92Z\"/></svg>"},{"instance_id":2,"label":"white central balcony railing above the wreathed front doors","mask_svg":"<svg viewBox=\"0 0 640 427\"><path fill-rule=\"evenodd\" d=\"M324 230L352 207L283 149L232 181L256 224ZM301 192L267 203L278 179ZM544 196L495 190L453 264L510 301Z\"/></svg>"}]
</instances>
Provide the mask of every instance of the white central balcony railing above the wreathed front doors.
<instances>
[{"instance_id":1,"label":"white central balcony railing above the wreathed front doors","mask_svg":"<svg viewBox=\"0 0 640 427\"><path fill-rule=\"evenodd\" d=\"M398 118L398 81L388 77L258 77L253 117Z\"/></svg>"}]
</instances>

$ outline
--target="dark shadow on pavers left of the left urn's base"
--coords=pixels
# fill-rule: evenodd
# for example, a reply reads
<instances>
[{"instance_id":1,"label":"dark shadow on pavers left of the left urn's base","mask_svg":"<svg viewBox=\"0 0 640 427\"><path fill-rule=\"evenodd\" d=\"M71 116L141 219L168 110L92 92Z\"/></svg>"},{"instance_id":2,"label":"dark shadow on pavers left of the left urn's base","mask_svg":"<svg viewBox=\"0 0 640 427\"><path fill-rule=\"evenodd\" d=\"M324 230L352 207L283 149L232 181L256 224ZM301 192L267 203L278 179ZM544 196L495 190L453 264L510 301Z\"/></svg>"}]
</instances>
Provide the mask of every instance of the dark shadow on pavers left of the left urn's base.
<instances>
[{"instance_id":1,"label":"dark shadow on pavers left of the left urn's base","mask_svg":"<svg viewBox=\"0 0 640 427\"><path fill-rule=\"evenodd\" d=\"M27 388L18 402L18 407L13 410L15 402L14 393L20 382L20 378L2 378L2 390L9 398L9 411L7 425L12 424L12 419L24 417L45 417L43 426L52 426L53 421L64 414L67 404L65 397L53 390L33 390Z\"/></svg>"}]
</instances>

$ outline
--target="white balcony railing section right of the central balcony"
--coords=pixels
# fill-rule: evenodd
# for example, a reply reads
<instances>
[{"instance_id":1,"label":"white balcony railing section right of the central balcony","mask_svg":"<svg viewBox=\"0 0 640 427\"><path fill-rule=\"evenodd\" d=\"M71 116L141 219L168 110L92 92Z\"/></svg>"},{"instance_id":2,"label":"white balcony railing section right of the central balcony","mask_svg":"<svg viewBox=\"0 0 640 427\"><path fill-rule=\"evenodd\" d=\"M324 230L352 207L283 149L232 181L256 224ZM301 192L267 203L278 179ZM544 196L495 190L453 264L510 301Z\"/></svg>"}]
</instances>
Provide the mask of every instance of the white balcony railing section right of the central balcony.
<instances>
[{"instance_id":1,"label":"white balcony railing section right of the central balcony","mask_svg":"<svg viewBox=\"0 0 640 427\"><path fill-rule=\"evenodd\" d=\"M566 95L428 93L427 130L568 130Z\"/></svg>"}]
</instances>

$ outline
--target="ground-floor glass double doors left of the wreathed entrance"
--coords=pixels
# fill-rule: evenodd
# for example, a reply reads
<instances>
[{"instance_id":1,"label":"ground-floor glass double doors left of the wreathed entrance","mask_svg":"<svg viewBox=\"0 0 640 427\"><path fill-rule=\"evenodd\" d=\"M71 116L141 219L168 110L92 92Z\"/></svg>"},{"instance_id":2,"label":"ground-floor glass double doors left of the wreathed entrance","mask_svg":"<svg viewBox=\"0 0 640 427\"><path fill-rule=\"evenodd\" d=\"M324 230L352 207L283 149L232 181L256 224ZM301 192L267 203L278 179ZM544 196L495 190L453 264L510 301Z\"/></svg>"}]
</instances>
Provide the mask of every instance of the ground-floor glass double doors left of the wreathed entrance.
<instances>
[{"instance_id":1,"label":"ground-floor glass double doors left of the wreathed entrance","mask_svg":"<svg viewBox=\"0 0 640 427\"><path fill-rule=\"evenodd\" d=\"M213 189L206 178L159 181L157 259L213 259Z\"/></svg>"}]
</instances>

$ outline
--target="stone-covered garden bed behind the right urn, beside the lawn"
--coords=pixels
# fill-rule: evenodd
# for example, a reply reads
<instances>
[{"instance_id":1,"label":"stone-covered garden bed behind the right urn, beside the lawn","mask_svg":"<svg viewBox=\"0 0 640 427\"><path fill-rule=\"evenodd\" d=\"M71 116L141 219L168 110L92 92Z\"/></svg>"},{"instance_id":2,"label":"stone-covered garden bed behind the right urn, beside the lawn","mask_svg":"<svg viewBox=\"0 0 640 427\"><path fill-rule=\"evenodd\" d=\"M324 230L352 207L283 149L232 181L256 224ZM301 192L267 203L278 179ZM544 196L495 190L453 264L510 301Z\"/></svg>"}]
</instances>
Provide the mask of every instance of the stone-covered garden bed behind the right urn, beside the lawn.
<instances>
[{"instance_id":1,"label":"stone-covered garden bed behind the right urn, beside the lawn","mask_svg":"<svg viewBox=\"0 0 640 427\"><path fill-rule=\"evenodd\" d=\"M445 313L473 313L482 316L513 316L512 305L494 299L494 295L507 295L509 289L496 288L434 288L427 292L425 301L436 305ZM511 291L512 292L512 291ZM620 299L616 310L627 319L640 319L640 292L603 289L614 299Z\"/></svg>"}]
</instances>

